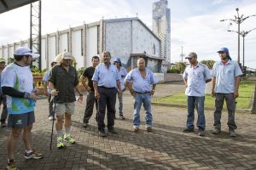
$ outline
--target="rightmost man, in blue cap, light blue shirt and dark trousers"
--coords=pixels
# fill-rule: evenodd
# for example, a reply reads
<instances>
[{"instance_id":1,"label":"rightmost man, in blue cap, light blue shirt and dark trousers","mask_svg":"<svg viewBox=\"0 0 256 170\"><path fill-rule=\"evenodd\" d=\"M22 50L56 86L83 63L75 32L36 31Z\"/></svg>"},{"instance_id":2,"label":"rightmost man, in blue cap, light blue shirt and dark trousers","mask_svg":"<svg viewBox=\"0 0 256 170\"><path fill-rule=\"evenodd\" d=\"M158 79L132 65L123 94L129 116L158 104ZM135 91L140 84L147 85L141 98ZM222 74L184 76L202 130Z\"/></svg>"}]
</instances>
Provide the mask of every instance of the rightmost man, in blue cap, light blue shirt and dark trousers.
<instances>
[{"instance_id":1,"label":"rightmost man, in blue cap, light blue shirt and dark trousers","mask_svg":"<svg viewBox=\"0 0 256 170\"><path fill-rule=\"evenodd\" d=\"M212 68L212 97L215 96L213 133L221 132L220 119L225 99L229 114L227 124L230 128L230 136L236 137L236 98L239 96L238 88L242 72L238 63L230 58L228 48L220 48L217 53L221 60Z\"/></svg>"}]
</instances>

